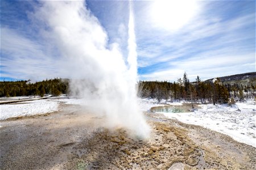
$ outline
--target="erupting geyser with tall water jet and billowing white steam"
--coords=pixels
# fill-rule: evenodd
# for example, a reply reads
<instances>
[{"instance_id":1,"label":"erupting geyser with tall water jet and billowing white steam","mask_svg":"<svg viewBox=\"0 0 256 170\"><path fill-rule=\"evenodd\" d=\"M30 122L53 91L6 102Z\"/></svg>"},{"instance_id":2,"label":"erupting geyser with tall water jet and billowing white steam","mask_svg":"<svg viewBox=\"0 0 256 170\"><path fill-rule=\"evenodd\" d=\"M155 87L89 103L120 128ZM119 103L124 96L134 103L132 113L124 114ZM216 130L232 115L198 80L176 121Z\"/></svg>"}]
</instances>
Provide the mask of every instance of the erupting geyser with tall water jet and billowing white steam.
<instances>
[{"instance_id":1,"label":"erupting geyser with tall water jet and billowing white steam","mask_svg":"<svg viewBox=\"0 0 256 170\"><path fill-rule=\"evenodd\" d=\"M118 44L108 36L82 1L43 1L35 16L41 31L60 53L63 73L75 95L92 111L106 115L109 126L122 126L141 138L150 132L137 105L137 52L130 3L127 65ZM111 48L107 48L110 46Z\"/></svg>"}]
</instances>

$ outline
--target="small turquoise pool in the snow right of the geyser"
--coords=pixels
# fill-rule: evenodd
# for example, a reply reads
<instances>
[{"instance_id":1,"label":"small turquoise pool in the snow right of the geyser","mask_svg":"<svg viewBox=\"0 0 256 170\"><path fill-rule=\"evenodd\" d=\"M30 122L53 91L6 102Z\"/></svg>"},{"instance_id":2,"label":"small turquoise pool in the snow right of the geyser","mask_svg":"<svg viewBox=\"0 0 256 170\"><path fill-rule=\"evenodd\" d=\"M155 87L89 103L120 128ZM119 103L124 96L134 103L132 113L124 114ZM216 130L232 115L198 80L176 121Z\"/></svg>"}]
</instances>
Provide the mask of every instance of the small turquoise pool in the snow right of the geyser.
<instances>
[{"instance_id":1,"label":"small turquoise pool in the snow right of the geyser","mask_svg":"<svg viewBox=\"0 0 256 170\"><path fill-rule=\"evenodd\" d=\"M194 106L195 107L195 106ZM152 113L187 113L192 112L191 104L183 104L183 105L164 105L159 107L152 107L150 109Z\"/></svg>"}]
</instances>

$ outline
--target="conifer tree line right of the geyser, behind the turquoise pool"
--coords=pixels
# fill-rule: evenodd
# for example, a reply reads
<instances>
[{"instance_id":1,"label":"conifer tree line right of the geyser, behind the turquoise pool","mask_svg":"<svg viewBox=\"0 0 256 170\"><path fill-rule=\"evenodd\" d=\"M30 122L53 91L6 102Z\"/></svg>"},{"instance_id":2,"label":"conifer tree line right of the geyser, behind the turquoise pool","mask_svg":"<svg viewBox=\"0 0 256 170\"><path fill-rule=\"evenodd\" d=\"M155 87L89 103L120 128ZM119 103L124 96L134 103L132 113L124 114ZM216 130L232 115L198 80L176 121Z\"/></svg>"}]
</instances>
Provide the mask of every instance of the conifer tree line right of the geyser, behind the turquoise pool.
<instances>
[{"instance_id":1,"label":"conifer tree line right of the geyser, behind the turquoise pool","mask_svg":"<svg viewBox=\"0 0 256 170\"><path fill-rule=\"evenodd\" d=\"M138 96L142 98L164 100L189 100L200 103L229 103L235 100L242 101L245 98L255 97L256 85L250 86L238 84L224 84L220 78L204 82L197 76L194 82L190 82L187 73L176 82L167 81L139 81Z\"/></svg>"}]
</instances>

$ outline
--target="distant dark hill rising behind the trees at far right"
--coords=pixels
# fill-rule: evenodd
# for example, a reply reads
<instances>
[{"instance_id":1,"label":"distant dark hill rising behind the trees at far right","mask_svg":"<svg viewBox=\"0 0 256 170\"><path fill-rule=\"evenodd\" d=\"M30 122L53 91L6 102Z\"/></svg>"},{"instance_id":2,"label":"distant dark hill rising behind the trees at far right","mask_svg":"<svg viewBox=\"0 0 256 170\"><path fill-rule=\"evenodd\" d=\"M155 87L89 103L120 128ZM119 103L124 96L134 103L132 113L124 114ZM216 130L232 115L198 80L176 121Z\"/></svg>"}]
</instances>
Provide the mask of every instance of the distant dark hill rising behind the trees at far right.
<instances>
[{"instance_id":1,"label":"distant dark hill rising behind the trees at far right","mask_svg":"<svg viewBox=\"0 0 256 170\"><path fill-rule=\"evenodd\" d=\"M251 84L253 84L253 86L256 85L256 72L222 76L219 78L224 84L237 84L239 86L251 86ZM205 82L212 82L213 79L214 78L205 80Z\"/></svg>"}]
</instances>

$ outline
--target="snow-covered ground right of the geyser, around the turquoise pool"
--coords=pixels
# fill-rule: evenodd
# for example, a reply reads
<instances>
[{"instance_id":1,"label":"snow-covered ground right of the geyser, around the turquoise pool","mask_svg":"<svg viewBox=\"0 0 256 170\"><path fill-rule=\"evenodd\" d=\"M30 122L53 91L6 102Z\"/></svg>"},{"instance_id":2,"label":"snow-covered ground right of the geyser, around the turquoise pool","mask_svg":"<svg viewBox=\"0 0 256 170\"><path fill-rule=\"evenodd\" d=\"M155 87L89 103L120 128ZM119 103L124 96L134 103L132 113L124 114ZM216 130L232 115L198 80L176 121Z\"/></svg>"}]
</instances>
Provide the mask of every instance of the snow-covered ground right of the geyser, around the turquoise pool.
<instances>
[{"instance_id":1,"label":"snow-covered ground right of the geyser, around the turquoise pool","mask_svg":"<svg viewBox=\"0 0 256 170\"><path fill-rule=\"evenodd\" d=\"M156 100L141 99L139 100L143 111L148 111L151 107L163 105L158 104ZM171 105L182 104L167 103ZM246 103L236 103L229 105L199 105L201 109L189 113L163 113L169 118L175 118L186 124L193 124L218 131L229 135L238 142L246 143L256 147L256 105L254 101L248 100Z\"/></svg>"}]
</instances>

